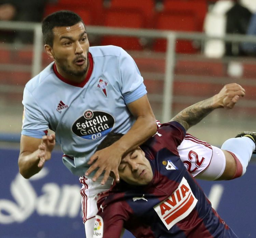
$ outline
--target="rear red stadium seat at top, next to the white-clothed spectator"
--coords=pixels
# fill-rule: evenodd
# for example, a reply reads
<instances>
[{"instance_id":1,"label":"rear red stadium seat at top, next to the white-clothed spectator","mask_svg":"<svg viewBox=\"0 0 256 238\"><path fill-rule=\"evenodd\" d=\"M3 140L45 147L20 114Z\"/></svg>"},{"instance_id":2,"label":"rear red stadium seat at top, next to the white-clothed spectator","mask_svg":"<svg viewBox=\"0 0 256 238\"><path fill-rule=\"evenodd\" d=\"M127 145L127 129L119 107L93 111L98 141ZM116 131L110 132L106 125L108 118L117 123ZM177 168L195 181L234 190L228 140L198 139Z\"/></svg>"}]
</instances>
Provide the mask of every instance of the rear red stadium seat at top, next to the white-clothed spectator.
<instances>
[{"instance_id":1,"label":"rear red stadium seat at top, next to the white-clothed spectator","mask_svg":"<svg viewBox=\"0 0 256 238\"><path fill-rule=\"evenodd\" d=\"M203 22L205 15L208 11L206 0L164 0L163 11L164 12L180 12L186 11L194 14L198 20L197 31L203 30Z\"/></svg>"}]
</instances>

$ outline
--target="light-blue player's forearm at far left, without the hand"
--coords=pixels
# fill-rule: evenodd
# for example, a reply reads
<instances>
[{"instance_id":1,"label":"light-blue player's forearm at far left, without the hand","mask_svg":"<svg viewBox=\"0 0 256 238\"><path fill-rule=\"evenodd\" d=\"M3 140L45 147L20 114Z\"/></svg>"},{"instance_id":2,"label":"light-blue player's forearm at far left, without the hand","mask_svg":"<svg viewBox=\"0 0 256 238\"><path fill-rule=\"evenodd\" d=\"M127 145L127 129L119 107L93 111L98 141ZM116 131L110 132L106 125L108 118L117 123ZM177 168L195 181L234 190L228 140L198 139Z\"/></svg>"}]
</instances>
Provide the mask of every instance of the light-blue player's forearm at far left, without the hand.
<instances>
[{"instance_id":1,"label":"light-blue player's forearm at far left, without the hand","mask_svg":"<svg viewBox=\"0 0 256 238\"><path fill-rule=\"evenodd\" d=\"M36 150L33 153L23 152L20 154L18 159L19 172L25 179L29 179L42 169L38 167L40 158L37 155L39 152L39 150Z\"/></svg>"}]
</instances>

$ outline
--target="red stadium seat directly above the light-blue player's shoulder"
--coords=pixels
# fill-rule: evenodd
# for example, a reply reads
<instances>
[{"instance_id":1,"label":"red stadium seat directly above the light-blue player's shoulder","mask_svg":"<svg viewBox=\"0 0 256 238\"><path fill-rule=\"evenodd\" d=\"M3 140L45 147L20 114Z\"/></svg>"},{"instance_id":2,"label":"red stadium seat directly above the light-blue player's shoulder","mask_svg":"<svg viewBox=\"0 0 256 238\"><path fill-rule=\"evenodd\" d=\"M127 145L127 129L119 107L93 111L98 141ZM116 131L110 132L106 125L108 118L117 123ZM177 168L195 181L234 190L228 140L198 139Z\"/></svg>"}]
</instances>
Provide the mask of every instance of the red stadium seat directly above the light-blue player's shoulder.
<instances>
[{"instance_id":1,"label":"red stadium seat directly above the light-blue player's shoulder","mask_svg":"<svg viewBox=\"0 0 256 238\"><path fill-rule=\"evenodd\" d=\"M143 28L144 21L140 12L109 9L105 11L104 26L123 28ZM126 50L141 50L143 47L137 37L127 36L104 36L102 45L116 45Z\"/></svg>"}]
</instances>

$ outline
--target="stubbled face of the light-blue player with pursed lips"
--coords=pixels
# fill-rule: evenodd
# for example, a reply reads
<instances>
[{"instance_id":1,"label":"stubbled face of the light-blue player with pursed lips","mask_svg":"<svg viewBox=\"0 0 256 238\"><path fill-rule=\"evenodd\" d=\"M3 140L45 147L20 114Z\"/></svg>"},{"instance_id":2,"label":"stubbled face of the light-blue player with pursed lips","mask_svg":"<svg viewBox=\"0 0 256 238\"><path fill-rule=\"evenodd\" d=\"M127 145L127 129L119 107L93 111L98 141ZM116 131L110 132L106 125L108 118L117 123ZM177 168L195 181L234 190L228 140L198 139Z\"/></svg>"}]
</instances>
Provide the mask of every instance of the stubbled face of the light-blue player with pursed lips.
<instances>
[{"instance_id":1,"label":"stubbled face of the light-blue player with pursed lips","mask_svg":"<svg viewBox=\"0 0 256 238\"><path fill-rule=\"evenodd\" d=\"M67 79L84 79L88 69L89 41L82 22L55 27L52 55L59 73Z\"/></svg>"}]
</instances>

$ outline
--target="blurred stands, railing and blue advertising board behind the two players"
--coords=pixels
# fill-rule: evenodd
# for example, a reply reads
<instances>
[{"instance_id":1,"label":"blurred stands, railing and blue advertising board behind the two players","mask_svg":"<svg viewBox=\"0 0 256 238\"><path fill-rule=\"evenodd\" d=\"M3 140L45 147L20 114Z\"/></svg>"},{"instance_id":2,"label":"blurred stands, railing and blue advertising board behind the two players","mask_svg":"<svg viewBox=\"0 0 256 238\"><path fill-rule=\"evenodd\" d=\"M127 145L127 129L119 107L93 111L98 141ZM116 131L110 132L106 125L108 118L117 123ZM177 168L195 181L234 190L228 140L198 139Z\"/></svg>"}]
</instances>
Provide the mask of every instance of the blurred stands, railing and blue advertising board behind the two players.
<instances>
[{"instance_id":1,"label":"blurred stands, railing and blue advertising board behind the two players","mask_svg":"<svg viewBox=\"0 0 256 238\"><path fill-rule=\"evenodd\" d=\"M117 45L132 55L158 120L236 82L246 96L235 108L216 110L188 132L221 146L255 131L256 1L0 0L0 238L85 236L80 185L59 148L34 179L24 180L17 167L23 89L51 62L40 22L58 10L82 17L90 46ZM234 181L199 181L239 237L256 237L255 161Z\"/></svg>"}]
</instances>

